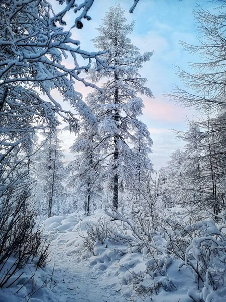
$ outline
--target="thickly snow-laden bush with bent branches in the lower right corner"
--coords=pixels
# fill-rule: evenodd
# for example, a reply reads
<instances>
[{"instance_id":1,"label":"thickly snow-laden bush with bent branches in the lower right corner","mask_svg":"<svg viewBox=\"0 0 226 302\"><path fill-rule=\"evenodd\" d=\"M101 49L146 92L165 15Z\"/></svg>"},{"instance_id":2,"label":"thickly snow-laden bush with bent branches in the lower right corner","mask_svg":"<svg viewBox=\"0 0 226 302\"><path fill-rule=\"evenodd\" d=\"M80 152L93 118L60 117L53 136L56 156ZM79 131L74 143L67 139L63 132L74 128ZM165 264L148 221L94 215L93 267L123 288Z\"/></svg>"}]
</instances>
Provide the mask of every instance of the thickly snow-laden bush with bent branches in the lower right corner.
<instances>
[{"instance_id":1,"label":"thickly snow-laden bush with bent branches in the lower right corner","mask_svg":"<svg viewBox=\"0 0 226 302\"><path fill-rule=\"evenodd\" d=\"M213 220L190 225L165 223L163 247L170 256L182 260L179 270L189 267L193 271L197 287L202 290L198 301L218 301L216 291L224 285L226 237L223 230L225 223L219 225ZM192 292L190 296L196 301Z\"/></svg>"}]
</instances>

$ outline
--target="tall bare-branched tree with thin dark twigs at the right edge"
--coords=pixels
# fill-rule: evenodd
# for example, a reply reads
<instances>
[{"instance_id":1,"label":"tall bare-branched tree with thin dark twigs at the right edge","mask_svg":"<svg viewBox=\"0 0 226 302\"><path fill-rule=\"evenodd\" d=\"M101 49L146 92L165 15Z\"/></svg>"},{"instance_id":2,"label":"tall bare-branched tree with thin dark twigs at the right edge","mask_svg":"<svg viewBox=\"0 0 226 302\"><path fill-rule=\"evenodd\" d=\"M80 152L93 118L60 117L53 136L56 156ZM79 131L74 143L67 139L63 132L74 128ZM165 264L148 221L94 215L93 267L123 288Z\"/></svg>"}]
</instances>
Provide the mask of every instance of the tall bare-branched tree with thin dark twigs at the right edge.
<instances>
[{"instance_id":1,"label":"tall bare-branched tree with thin dark twigs at the right edge","mask_svg":"<svg viewBox=\"0 0 226 302\"><path fill-rule=\"evenodd\" d=\"M197 29L200 33L199 44L189 45L182 43L185 50L198 54L204 61L192 63L193 72L183 71L178 67L178 73L183 80L185 89L175 88L169 96L183 104L199 109L202 112L201 120L197 123L201 132L201 152L190 154L189 162L195 165L196 171L190 174L196 187L196 198L202 199L217 216L222 208L222 196L225 195L223 184L226 167L226 149L224 134L225 124L225 15L226 2L219 1L219 7L214 13L199 7L194 16ZM186 139L187 134L182 136ZM200 142L197 135L190 133L193 141ZM198 158L198 161L197 161ZM194 173L195 172L195 173ZM195 177L196 175L196 177ZM222 179L222 181L221 181ZM199 187L199 189L198 189ZM201 189L201 192L200 192ZM205 198L204 195L205 194ZM221 197L220 197L221 196Z\"/></svg>"}]
</instances>

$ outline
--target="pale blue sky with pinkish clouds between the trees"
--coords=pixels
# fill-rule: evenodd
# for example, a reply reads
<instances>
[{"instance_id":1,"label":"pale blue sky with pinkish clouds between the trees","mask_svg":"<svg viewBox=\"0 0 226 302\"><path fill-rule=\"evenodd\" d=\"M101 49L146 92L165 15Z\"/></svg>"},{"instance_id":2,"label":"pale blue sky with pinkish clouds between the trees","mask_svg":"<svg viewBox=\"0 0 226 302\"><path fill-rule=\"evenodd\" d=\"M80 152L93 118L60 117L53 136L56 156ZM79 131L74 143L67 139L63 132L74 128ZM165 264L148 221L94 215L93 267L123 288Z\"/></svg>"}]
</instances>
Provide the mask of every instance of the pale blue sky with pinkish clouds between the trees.
<instances>
[{"instance_id":1,"label":"pale blue sky with pinkish clouds between the trees","mask_svg":"<svg viewBox=\"0 0 226 302\"><path fill-rule=\"evenodd\" d=\"M55 2L56 3L56 2ZM197 7L197 0L140 0L134 13L129 13L132 0L94 0L89 12L91 21L84 21L82 30L73 29L73 37L81 41L81 47L88 51L96 50L90 40L98 35L97 27L101 25L108 7L120 3L125 9L128 23L136 20L133 34L130 38L141 53L154 51L150 62L141 70L142 76L147 78L147 86L152 90L155 98L143 98L145 108L142 121L148 126L153 139L152 162L157 170L170 159L170 155L177 147L183 146L182 142L175 139L171 129L185 130L186 116L192 119L196 113L188 108L182 108L168 100L163 94L172 90L173 83L182 87L182 83L175 75L174 65L188 69L188 62L197 60L183 51L179 41L197 44L195 20L192 10ZM208 0L198 2L203 8L210 9L213 3ZM58 7L55 7L57 11ZM70 13L67 18L67 28L72 26L76 15ZM85 97L90 92L81 84L77 84L78 91ZM72 144L73 137L66 133L62 135L66 159L71 159L68 147Z\"/></svg>"}]
</instances>

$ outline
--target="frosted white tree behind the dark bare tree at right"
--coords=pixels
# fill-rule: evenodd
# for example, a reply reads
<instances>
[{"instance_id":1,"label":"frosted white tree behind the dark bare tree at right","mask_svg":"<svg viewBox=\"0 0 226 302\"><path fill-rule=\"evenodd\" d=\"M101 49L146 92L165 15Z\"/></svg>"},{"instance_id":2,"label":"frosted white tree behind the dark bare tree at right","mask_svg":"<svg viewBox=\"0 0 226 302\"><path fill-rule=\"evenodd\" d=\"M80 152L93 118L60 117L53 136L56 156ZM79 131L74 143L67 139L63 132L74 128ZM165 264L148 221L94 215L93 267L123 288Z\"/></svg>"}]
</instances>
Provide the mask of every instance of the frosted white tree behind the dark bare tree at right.
<instances>
[{"instance_id":1,"label":"frosted white tree behind the dark bare tree at right","mask_svg":"<svg viewBox=\"0 0 226 302\"><path fill-rule=\"evenodd\" d=\"M174 203L192 205L197 211L209 210L213 216L223 207L225 182L222 167L222 140L215 131L218 118L192 121L187 132L177 132L186 144L176 150L165 169ZM168 193L169 193L168 192Z\"/></svg>"}]
</instances>

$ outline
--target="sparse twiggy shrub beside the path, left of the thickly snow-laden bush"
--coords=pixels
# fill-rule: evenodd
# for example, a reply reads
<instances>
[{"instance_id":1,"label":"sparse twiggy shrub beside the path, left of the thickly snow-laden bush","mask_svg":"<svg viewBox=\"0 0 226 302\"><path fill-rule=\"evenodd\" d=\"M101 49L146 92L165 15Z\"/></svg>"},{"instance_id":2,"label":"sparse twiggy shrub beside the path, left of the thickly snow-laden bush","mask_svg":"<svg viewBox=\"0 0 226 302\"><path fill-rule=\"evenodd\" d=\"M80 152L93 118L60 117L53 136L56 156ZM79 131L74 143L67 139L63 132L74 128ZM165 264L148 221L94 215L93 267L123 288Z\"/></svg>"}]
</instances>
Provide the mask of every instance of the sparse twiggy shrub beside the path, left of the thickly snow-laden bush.
<instances>
[{"instance_id":1,"label":"sparse twiggy shrub beside the path, left of the thickly snow-laden bush","mask_svg":"<svg viewBox=\"0 0 226 302\"><path fill-rule=\"evenodd\" d=\"M154 216L144 215L141 211L136 215L133 213L132 217L118 211L114 211L113 214L107 212L107 214L122 221L124 228L132 232L130 237L124 238L128 244L128 251L141 253L141 257L145 260L146 268L139 272L130 270L131 276L126 280L127 284L131 284L133 288L133 297L144 299L151 294L158 294L161 287L165 291L174 291L175 285L167 274L173 257L164 249L166 240L162 237L161 223L159 223L160 228L157 229L152 220Z\"/></svg>"}]
</instances>

